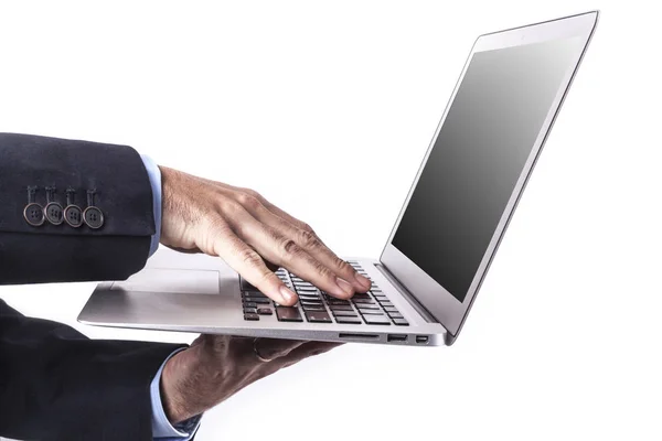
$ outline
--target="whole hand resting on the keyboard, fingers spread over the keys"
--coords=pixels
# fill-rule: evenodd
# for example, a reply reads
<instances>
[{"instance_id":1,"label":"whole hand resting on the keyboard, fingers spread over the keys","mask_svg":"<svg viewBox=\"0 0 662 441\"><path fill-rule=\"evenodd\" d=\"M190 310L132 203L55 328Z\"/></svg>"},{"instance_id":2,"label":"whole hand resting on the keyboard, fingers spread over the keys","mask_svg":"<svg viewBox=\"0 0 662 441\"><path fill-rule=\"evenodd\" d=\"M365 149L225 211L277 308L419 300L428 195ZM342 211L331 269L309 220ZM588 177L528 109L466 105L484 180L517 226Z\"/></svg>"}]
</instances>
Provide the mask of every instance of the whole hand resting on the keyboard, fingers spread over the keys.
<instances>
[{"instance_id":1,"label":"whole hand resting on the keyboard, fingers spread over the keys","mask_svg":"<svg viewBox=\"0 0 662 441\"><path fill-rule=\"evenodd\" d=\"M331 251L308 226L258 193L161 168L161 243L224 259L282 305L297 294L271 269L286 268L330 295L349 299L371 281Z\"/></svg>"}]
</instances>

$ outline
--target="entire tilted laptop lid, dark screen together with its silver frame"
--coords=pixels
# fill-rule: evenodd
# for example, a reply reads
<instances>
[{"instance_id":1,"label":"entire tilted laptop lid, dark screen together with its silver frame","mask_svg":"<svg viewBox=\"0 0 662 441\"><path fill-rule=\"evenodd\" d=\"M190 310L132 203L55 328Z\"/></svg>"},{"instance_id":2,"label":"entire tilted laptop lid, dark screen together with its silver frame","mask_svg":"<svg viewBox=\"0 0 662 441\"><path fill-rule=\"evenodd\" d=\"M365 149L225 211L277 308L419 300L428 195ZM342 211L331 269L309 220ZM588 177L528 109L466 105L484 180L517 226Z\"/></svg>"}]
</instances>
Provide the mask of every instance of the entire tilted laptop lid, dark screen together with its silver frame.
<instances>
[{"instance_id":1,"label":"entire tilted laptop lid, dark screen together with its silver frame","mask_svg":"<svg viewBox=\"0 0 662 441\"><path fill-rule=\"evenodd\" d=\"M448 345L459 335L597 20L594 11L485 34L472 47L380 258L446 327Z\"/></svg>"}]
</instances>

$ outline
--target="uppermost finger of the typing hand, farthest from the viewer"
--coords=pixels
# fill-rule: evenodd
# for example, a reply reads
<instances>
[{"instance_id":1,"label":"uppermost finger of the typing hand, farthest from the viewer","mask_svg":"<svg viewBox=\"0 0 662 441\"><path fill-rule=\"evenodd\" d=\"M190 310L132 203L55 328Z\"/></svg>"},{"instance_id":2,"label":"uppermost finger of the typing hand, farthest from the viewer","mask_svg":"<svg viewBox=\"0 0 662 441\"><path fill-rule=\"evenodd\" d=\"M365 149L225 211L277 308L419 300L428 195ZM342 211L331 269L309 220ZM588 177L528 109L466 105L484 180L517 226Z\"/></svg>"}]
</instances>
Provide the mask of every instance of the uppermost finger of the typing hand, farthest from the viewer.
<instances>
[{"instance_id":1,"label":"uppermost finger of the typing hand, farthest from the viewer","mask_svg":"<svg viewBox=\"0 0 662 441\"><path fill-rule=\"evenodd\" d=\"M306 252L333 271L338 277L352 284L356 291L366 292L370 289L371 281L331 251L314 233L296 227L293 224L268 211L261 204L249 208L248 212L257 220L270 226L285 237L291 237ZM298 276L301 277L301 275Z\"/></svg>"}]
</instances>

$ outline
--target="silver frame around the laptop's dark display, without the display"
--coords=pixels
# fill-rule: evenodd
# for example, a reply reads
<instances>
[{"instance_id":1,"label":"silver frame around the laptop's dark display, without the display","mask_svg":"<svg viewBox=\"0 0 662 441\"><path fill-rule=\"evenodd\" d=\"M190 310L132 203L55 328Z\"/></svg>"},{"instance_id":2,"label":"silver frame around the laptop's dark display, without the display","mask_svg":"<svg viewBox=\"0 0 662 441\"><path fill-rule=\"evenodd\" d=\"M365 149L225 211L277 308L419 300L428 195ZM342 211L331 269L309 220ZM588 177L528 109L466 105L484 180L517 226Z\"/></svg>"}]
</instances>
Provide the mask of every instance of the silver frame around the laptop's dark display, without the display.
<instances>
[{"instance_id":1,"label":"silver frame around the laptop's dark display, without the display","mask_svg":"<svg viewBox=\"0 0 662 441\"><path fill-rule=\"evenodd\" d=\"M532 24L523 28L511 29L506 31L495 32L491 34L484 34L479 36L473 47L471 49L471 53L465 63L465 67L462 68L462 73L456 87L452 92L452 95L448 101L448 105L444 111L444 116L439 121L437 130L435 131L435 136L428 147L428 150L425 154L423 163L418 170L418 173L414 180L414 183L409 190L407 198L401 209L398 218L391 232L391 236L382 251L382 256L380 257L380 261L384 265L388 271L397 278L397 280L405 287L407 290L416 298L416 300L436 319L439 321L444 327L451 334L451 337L457 337L457 334L461 330L461 326L469 313L471 304L473 303L473 299L480 289L482 280L489 269L490 262L499 247L499 243L503 237L503 234L508 227L508 223L515 209L520 195L522 194L528 175L531 174L533 166L535 165L535 161L543 148L545 139L549 133L554 119L560 109L560 105L567 90L572 84L573 77L579 67L584 53L586 52L586 47L590 41L592 32L598 21L598 11L592 11L579 15L568 17L564 19L558 19L554 21ZM399 249L393 246L393 237L395 236L397 228L401 224L403 215L407 208L409 200L416 189L420 174L425 168L427 159L435 146L437 137L441 127L444 126L444 121L446 120L446 116L448 115L449 109L452 106L456 94L458 93L459 86L465 78L465 74L467 68L469 67L473 55L477 52L482 51L491 51L504 47L512 47L517 45L525 45L538 42L545 42L551 40L560 40L566 37L578 37L580 42L578 42L577 54L574 55L573 63L570 66L573 68L568 69L568 73L564 77L560 87L558 89L558 94L555 97L552 106L549 107L549 112L541 128L538 137L531 150L531 154L526 160L526 163L522 170L522 174L520 175L515 187L509 198L508 205L501 216L501 219L496 226L494 235L492 236L490 244L483 255L481 263L473 277L471 286L465 297L465 300L460 302L457 300L450 292L448 292L444 287L441 287L437 281L435 281L429 275L427 275L423 269L420 269L416 263L414 263L407 256L405 256Z\"/></svg>"}]
</instances>

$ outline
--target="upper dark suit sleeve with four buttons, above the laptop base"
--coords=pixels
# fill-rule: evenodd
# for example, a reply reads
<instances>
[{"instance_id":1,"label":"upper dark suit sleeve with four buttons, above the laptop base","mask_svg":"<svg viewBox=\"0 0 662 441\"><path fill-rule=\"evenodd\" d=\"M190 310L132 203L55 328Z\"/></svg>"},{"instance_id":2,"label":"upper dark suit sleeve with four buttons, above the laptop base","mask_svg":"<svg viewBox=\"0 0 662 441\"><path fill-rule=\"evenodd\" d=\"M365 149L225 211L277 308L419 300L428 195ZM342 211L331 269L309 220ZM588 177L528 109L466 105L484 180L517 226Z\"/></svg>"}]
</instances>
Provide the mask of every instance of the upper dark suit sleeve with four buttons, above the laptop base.
<instances>
[{"instance_id":1,"label":"upper dark suit sleeve with four buttons, above the laptop base","mask_svg":"<svg viewBox=\"0 0 662 441\"><path fill-rule=\"evenodd\" d=\"M100 215L34 225L31 201L36 212L55 202ZM149 176L130 147L0 133L0 284L126 279L154 233Z\"/></svg>"}]
</instances>

